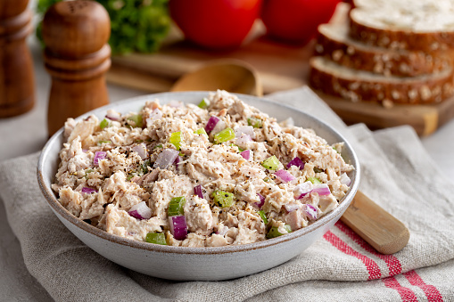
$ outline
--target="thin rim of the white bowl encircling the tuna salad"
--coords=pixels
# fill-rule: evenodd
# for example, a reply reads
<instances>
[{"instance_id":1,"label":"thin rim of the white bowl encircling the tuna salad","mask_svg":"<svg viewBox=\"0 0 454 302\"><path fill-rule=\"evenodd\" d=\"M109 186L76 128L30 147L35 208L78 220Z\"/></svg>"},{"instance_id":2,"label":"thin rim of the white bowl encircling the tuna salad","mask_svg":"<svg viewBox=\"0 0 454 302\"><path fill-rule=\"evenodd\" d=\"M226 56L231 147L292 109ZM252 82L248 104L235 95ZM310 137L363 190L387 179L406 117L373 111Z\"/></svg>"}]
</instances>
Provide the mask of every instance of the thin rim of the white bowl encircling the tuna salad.
<instances>
[{"instance_id":1,"label":"thin rim of the white bowl encircling the tuna salad","mask_svg":"<svg viewBox=\"0 0 454 302\"><path fill-rule=\"evenodd\" d=\"M161 95L164 94L172 94L172 95L178 95L178 94L194 94L194 95L199 95L199 94L204 94L205 96L210 94L212 92L210 91L191 91L191 92L165 92L165 93L158 93L158 94L144 94L140 96L136 96L133 98L128 98L125 100L122 100L120 102L113 102L108 105L105 105L103 107L99 107L95 110L90 110L87 113L84 113L83 115L80 115L78 118L75 118L76 120L86 118L87 116L95 113L100 113L100 112L105 112L108 109L111 109L112 107L117 107L119 105L125 104L127 102L138 102L138 101L147 101L147 100L152 100L152 99L160 99ZM48 150L50 149L49 146L54 144L56 141L59 140L60 135L62 135L63 132L63 127L60 128L52 137L45 143L45 146L43 150L41 151L39 155L39 159L37 162L37 181L39 184L39 187L41 189L41 192L45 196L45 200L47 201L47 204L54 210L54 213L57 216L60 216L60 219L64 219L68 221L70 224L73 224L74 226L78 227L79 229L90 233L91 235L94 235L95 237L98 237L102 240L106 241L111 241L113 243L118 243L122 246L126 246L129 248L134 248L134 249L143 249L147 250L150 252L164 252L164 253L173 253L173 254L201 254L201 255L214 255L214 254L226 254L226 253L235 253L235 252L245 252L245 251L251 251L255 249L264 249L268 248L270 246L274 246L277 244L280 244L285 241L293 241L294 239L300 238L301 236L304 236L307 233L311 233L318 228L322 227L325 224L328 224L330 221L332 221L339 212L343 212L346 208L348 208L351 204L351 201L354 198L354 195L358 191L359 188L359 180L360 180L360 166L359 166L359 159L356 154L356 152L353 150L351 147L351 143L349 143L343 135L341 135L334 127L329 126L326 124L326 122L320 120L319 118L316 118L309 113L306 113L302 110L299 110L297 108L294 108L292 106L289 106L287 104L283 103L278 103L278 102L273 102L268 100L266 97L258 97L258 96L253 96L249 94L235 94L238 96L242 101L245 101L247 103L247 99L254 99L259 102L265 102L265 103L270 103L273 106L279 106L279 107L284 107L287 110L294 110L298 111L299 114L303 114L309 118L314 119L317 121L319 124L321 124L322 127L325 127L329 129L329 131L333 132L334 135L338 136L341 140L339 142L343 142L345 146L351 151L351 165L355 167L355 177L352 179L351 186L341 202L339 203L339 206L337 208L334 208L333 211L329 212L326 214L326 216L323 216L319 218L315 223L309 224L306 227L303 227L299 230L293 231L292 233L285 234L285 236L279 236L276 238L268 239L265 241L258 241L258 242L253 242L253 243L247 243L247 244L239 244L239 245L227 245L227 246L221 246L221 247L203 247L203 248L195 248L195 247L174 247L174 246L167 246L167 245L159 245L159 244L150 244L148 242L144 241L136 241L133 239L128 239L128 238L123 238L118 235L114 235L111 233L107 233L101 229L98 229L97 227L87 224L83 220L80 220L78 217L72 215L66 208L62 206L62 204L56 199L55 194L52 190L52 188L48 187L45 184L45 176L43 175L44 171L44 165L47 159L49 159L49 154ZM177 98L177 97L176 97Z\"/></svg>"}]
</instances>

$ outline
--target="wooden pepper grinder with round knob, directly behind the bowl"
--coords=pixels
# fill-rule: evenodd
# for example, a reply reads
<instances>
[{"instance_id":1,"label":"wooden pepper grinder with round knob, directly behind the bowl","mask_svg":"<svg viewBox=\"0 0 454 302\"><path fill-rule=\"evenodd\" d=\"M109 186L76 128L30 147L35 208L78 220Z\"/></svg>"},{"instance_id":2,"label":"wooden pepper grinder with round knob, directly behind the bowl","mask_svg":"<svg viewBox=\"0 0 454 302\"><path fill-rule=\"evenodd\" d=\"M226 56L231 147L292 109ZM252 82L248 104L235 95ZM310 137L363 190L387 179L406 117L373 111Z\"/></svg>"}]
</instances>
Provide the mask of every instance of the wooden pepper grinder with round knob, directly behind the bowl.
<instances>
[{"instance_id":1,"label":"wooden pepper grinder with round knob, directly behind the bowl","mask_svg":"<svg viewBox=\"0 0 454 302\"><path fill-rule=\"evenodd\" d=\"M51 6L43 20L45 68L52 77L47 129L109 103L105 72L111 66L111 20L95 1Z\"/></svg>"}]
</instances>

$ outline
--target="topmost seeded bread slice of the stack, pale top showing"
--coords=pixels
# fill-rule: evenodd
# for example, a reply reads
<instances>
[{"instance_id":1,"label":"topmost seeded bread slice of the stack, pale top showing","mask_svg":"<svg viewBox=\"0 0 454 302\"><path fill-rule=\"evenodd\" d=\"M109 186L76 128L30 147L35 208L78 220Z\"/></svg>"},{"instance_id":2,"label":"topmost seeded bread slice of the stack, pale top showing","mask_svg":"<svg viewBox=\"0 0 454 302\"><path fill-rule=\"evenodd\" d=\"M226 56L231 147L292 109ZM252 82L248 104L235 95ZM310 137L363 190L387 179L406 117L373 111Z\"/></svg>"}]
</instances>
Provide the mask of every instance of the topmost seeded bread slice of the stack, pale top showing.
<instances>
[{"instance_id":1,"label":"topmost seeded bread slice of the stack, pale top showing","mask_svg":"<svg viewBox=\"0 0 454 302\"><path fill-rule=\"evenodd\" d=\"M367 45L433 52L454 47L453 0L360 0L352 38Z\"/></svg>"}]
</instances>

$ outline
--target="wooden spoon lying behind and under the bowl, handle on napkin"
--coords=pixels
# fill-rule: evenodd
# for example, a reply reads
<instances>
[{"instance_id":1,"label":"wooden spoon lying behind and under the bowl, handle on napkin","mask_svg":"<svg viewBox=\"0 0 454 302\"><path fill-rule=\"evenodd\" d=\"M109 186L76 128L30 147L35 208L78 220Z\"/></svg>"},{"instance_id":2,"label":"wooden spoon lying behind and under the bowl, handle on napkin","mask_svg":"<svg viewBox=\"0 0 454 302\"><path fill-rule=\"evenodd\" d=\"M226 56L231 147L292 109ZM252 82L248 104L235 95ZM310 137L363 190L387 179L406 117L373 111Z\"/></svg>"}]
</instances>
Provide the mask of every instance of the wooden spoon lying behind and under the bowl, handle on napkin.
<instances>
[{"instance_id":1,"label":"wooden spoon lying behind and under the bowl, handle on napkin","mask_svg":"<svg viewBox=\"0 0 454 302\"><path fill-rule=\"evenodd\" d=\"M216 61L187 73L170 91L215 91L262 96L257 72L241 61ZM382 254L393 254L409 242L409 230L396 217L358 191L341 220Z\"/></svg>"}]
</instances>

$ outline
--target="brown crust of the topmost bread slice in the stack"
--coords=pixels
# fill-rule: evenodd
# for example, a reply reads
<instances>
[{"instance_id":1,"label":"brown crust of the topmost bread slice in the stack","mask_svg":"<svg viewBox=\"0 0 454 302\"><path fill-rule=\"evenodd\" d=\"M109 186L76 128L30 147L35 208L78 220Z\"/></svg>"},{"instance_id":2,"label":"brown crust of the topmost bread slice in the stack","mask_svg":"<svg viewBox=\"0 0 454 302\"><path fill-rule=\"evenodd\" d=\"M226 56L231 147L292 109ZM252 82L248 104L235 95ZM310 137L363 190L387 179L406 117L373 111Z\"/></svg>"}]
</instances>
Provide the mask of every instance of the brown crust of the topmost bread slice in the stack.
<instances>
[{"instance_id":1,"label":"brown crust of the topmost bread slice in the stack","mask_svg":"<svg viewBox=\"0 0 454 302\"><path fill-rule=\"evenodd\" d=\"M350 12L350 36L367 45L393 50L417 50L425 53L448 51L454 47L454 31L417 32L403 29L382 29L368 26Z\"/></svg>"}]
</instances>

